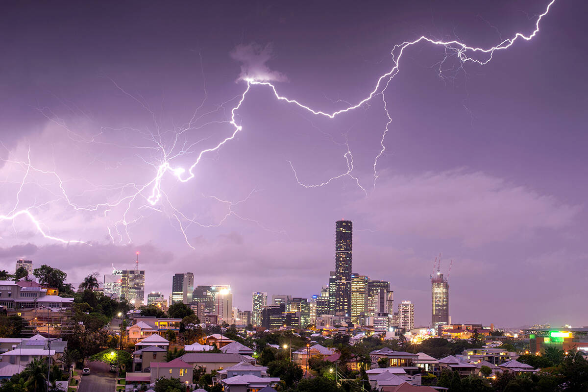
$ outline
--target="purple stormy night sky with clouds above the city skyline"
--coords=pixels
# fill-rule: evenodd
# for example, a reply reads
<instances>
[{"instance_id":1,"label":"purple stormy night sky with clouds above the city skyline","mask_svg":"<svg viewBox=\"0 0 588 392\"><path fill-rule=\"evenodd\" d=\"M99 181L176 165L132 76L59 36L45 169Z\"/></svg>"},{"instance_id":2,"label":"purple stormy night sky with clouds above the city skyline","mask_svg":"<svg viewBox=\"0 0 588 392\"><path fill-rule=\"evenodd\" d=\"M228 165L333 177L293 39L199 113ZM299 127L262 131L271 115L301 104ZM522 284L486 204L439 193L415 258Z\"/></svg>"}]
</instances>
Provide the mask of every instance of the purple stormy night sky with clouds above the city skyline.
<instances>
[{"instance_id":1,"label":"purple stormy night sky with clouds above the city skyline","mask_svg":"<svg viewBox=\"0 0 588 392\"><path fill-rule=\"evenodd\" d=\"M333 112L369 95L397 43L488 48L531 33L546 6L2 4L0 216L28 210L45 234L88 244L45 238L19 215L0 220L0 267L25 257L78 284L132 267L139 250L146 290L168 294L173 273L193 272L196 284L230 284L233 304L250 309L252 291L319 293L345 218L354 272L390 280L397 303L415 303L416 324L430 323L442 253L442 269L453 259L453 321L586 325L582 1L556 0L531 41L483 66L443 61L440 45L407 47L384 96L392 122L375 187L381 94L329 119L254 85L235 112L242 131L205 153L191 180L163 174L148 202L160 165L188 169L232 134L240 76ZM346 173L348 148L355 179L299 185Z\"/></svg>"}]
</instances>

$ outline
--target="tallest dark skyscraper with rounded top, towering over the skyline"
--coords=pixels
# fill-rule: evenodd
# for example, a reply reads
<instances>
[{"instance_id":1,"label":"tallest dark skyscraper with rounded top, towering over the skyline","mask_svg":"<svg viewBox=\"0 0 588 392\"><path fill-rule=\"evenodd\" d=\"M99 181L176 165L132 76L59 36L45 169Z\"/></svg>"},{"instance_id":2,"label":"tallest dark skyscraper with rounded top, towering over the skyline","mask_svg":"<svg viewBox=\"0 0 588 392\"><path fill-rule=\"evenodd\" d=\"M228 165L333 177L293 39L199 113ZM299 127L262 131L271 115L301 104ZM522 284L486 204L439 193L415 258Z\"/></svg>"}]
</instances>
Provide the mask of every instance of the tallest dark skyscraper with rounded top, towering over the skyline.
<instances>
[{"instance_id":1,"label":"tallest dark skyscraper with rounded top, towering over the skyline","mask_svg":"<svg viewBox=\"0 0 588 392\"><path fill-rule=\"evenodd\" d=\"M335 222L335 314L351 314L353 222Z\"/></svg>"}]
</instances>

